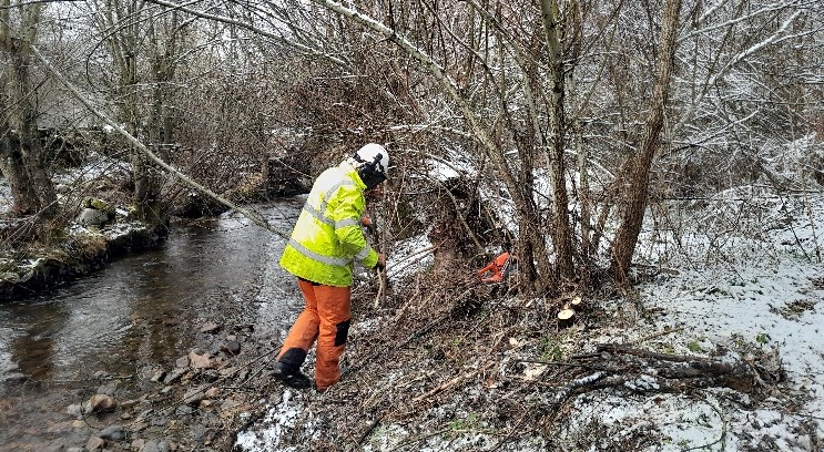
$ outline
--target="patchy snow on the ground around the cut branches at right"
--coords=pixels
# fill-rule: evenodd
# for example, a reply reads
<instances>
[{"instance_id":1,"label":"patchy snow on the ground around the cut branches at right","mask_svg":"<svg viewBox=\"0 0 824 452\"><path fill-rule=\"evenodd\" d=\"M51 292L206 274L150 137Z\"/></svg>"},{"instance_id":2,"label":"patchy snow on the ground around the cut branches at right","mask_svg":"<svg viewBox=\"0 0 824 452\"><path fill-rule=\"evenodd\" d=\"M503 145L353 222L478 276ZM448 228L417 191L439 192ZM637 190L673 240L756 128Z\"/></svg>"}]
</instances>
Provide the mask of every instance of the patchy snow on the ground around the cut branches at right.
<instances>
[{"instance_id":1,"label":"patchy snow on the ground around the cut branches at right","mask_svg":"<svg viewBox=\"0 0 824 452\"><path fill-rule=\"evenodd\" d=\"M816 255L824 202L811 202L775 203L772 212L755 214L761 222L742 216L741 222L750 222L746 237L724 237L724 245L714 249L724 259L695 260L711 255L704 247L718 243L718 232L708 228L686 238L693 251L690 259L639 287L641 305L654 314L635 319L633 328L614 328L612 336L604 331L601 338L680 355L703 356L719 347L761 348L783 362L787 381L782 393L754 409L747 408L746 398L743 404L733 402L741 394L724 389L703 391L701 397L590 393L576 401L577 414L563 438L573 445L589 444L583 450L609 449L621 438L642 436L642 431L658 440L635 444L639 450L822 450L824 266ZM779 212L794 220L776 226ZM660 255L647 257L655 261ZM620 318L623 307L618 300L616 305L612 310ZM671 332L643 340L665 331ZM597 429L608 442L584 433Z\"/></svg>"}]
</instances>

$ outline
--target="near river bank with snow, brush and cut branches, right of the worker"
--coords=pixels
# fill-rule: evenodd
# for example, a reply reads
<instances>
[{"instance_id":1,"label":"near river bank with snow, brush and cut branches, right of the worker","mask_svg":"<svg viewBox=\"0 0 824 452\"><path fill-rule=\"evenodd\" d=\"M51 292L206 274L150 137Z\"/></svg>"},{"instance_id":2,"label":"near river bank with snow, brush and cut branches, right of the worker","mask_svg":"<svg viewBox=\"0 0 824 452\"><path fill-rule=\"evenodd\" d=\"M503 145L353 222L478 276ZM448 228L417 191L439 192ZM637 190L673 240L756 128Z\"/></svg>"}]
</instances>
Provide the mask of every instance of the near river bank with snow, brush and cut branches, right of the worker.
<instances>
[{"instance_id":1,"label":"near river bank with snow, brush and cut branches, right of the worker","mask_svg":"<svg viewBox=\"0 0 824 452\"><path fill-rule=\"evenodd\" d=\"M824 199L772 202L761 216L739 217L754 236L718 246L695 220L681 237L689 253L665 267L665 249L640 249L638 263L658 265L639 266L637 291L583 294L569 328L555 314L574 294L522 297L479 284L457 261L444 274L390 277L380 304L362 286L342 382L323 394L261 398L265 415L235 445L822 451L824 267L811 250ZM716 218L728 203L694 215Z\"/></svg>"}]
</instances>

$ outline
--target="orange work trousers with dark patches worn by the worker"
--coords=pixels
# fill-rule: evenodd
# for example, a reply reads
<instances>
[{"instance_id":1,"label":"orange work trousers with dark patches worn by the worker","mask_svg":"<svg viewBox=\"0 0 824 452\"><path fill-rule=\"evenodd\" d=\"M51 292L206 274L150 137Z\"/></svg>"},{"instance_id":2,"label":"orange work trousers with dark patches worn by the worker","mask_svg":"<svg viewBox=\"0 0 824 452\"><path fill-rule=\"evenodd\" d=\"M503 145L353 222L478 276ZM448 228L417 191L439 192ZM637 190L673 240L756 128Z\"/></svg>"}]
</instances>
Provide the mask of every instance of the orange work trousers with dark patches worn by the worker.
<instances>
[{"instance_id":1,"label":"orange work trousers with dark patches worn by the worker","mask_svg":"<svg viewBox=\"0 0 824 452\"><path fill-rule=\"evenodd\" d=\"M352 289L298 279L306 306L292 326L277 360L299 370L317 340L315 386L324 391L340 379L338 366L352 318Z\"/></svg>"}]
</instances>

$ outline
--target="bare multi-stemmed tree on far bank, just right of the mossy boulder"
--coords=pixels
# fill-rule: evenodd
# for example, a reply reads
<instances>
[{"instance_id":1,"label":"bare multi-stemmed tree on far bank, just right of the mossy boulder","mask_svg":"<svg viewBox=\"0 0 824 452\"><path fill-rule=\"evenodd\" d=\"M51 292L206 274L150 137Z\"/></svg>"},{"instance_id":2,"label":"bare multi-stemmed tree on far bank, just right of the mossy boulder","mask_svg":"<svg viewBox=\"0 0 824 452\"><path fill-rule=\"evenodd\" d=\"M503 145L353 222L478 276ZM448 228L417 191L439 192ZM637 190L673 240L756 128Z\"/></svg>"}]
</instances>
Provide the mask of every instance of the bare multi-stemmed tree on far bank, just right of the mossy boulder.
<instances>
[{"instance_id":1,"label":"bare multi-stemmed tree on far bank, just right of the mossy boulder","mask_svg":"<svg viewBox=\"0 0 824 452\"><path fill-rule=\"evenodd\" d=\"M100 81L126 131L145 140L162 158L175 142L174 93L176 70L185 51L186 25L177 11L163 11L141 0L94 0L90 12L110 55ZM139 217L162 222L163 176L145 155L131 153L133 203Z\"/></svg>"}]
</instances>

